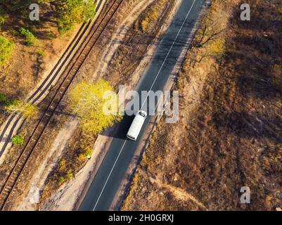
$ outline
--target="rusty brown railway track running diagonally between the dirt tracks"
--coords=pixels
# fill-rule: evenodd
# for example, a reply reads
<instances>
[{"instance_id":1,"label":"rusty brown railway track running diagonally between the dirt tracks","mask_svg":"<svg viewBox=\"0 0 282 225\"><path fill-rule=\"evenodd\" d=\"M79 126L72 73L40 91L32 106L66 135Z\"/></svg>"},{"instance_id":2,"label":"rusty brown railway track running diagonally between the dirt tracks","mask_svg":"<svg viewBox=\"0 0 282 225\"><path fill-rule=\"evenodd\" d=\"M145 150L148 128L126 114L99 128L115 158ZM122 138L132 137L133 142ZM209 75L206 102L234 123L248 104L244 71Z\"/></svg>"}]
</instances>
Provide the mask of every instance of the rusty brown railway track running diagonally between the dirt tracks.
<instances>
[{"instance_id":1,"label":"rusty brown railway track running diagonally between the dirt tracks","mask_svg":"<svg viewBox=\"0 0 282 225\"><path fill-rule=\"evenodd\" d=\"M123 1L124 0L113 1L113 4L110 5L110 8L108 9L107 13L105 13L105 16L101 19L100 23L97 23L96 25L94 24L92 30L89 32L87 37L85 37L84 44L82 44L81 49L75 53L75 56L72 57L72 61L69 63L68 67L65 68L62 74L63 79L60 82L58 89L56 89L56 93L53 95L51 102L32 131L30 138L20 153L20 157L15 162L13 169L4 182L4 186L1 188L0 210L4 210L6 205L9 203L11 193L13 193L17 182L21 179L20 176L23 173L27 162L29 160L33 160L32 153L37 147L41 136L44 134L47 125L56 112L60 101L62 101L63 96L65 96L65 93L68 91L70 84L72 83L73 79L75 79L77 72L82 67L87 56L89 56L91 49L93 49L99 37L101 37L101 34L110 23L110 20L112 20L113 16L117 12L117 9L120 8L120 5Z\"/></svg>"}]
</instances>

